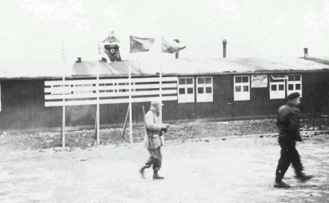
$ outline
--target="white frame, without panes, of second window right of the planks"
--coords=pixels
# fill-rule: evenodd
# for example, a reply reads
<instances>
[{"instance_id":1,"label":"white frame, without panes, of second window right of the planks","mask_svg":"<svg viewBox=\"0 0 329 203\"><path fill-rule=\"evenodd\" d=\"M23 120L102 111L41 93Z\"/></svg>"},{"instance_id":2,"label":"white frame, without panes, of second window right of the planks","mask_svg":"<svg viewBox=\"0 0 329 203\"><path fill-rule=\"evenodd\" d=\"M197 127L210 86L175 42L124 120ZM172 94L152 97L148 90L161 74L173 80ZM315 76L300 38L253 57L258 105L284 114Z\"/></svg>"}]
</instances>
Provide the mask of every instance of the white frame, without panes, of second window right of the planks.
<instances>
[{"instance_id":1,"label":"white frame, without panes, of second window right of the planks","mask_svg":"<svg viewBox=\"0 0 329 203\"><path fill-rule=\"evenodd\" d=\"M198 83L198 80L203 78L203 83ZM205 83L205 79L210 78L210 83ZM213 101L213 92L214 88L212 85L212 76L198 76L196 77L196 102L197 103L205 103ZM207 88L211 88L211 92L207 93ZM198 88L203 88L203 93L198 93Z\"/></svg>"}]
</instances>

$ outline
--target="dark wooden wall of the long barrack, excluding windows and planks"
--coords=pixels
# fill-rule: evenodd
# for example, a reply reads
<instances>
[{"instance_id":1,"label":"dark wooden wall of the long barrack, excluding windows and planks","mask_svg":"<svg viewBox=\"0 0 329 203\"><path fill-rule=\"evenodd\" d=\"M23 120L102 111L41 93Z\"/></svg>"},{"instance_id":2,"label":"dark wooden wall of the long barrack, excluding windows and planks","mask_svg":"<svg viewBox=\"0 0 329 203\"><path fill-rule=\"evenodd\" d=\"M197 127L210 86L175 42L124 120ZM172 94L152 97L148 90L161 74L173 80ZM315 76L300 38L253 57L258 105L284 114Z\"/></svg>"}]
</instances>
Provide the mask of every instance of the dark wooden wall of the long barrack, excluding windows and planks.
<instances>
[{"instance_id":1,"label":"dark wooden wall of the long barrack, excluding windows and planks","mask_svg":"<svg viewBox=\"0 0 329 203\"><path fill-rule=\"evenodd\" d=\"M194 78L195 79L195 78ZM195 80L194 80L195 81ZM44 80L0 81L0 129L60 127L62 107L45 107ZM300 108L306 114L329 114L329 72L302 74L303 98ZM276 114L285 99L269 99L269 85L250 88L250 100L234 101L234 75L213 76L213 102L177 103L163 101L163 120L232 118ZM133 103L133 122L142 122L150 103ZM100 105L100 124L122 124L128 103ZM66 125L95 125L96 105L66 107ZM127 120L128 122L128 120Z\"/></svg>"}]
</instances>

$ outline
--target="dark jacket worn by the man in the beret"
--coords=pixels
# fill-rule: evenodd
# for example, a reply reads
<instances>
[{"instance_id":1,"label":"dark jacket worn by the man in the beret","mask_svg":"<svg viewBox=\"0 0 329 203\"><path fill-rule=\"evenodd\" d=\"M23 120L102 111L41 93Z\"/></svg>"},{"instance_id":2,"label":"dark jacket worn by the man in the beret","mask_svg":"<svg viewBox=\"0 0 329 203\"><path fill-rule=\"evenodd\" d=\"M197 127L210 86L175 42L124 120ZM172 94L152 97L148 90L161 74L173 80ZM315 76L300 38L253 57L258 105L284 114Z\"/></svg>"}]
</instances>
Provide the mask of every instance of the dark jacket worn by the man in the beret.
<instances>
[{"instance_id":1,"label":"dark jacket worn by the man in the beret","mask_svg":"<svg viewBox=\"0 0 329 203\"><path fill-rule=\"evenodd\" d=\"M282 105L277 111L276 125L280 134L291 136L295 141L302 141L302 137L299 133L300 118L299 109L292 103Z\"/></svg>"}]
</instances>

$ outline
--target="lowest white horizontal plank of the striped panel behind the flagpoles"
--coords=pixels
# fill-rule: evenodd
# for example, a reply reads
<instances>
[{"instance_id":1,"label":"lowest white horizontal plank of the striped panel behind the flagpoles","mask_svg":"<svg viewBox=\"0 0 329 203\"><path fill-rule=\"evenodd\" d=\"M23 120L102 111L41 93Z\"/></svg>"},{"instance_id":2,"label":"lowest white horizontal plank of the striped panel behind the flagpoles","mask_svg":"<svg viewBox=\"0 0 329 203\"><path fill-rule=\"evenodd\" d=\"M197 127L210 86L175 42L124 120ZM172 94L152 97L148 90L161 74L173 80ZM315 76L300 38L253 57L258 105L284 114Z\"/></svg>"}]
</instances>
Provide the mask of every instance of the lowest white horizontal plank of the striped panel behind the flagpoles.
<instances>
[{"instance_id":1,"label":"lowest white horizontal plank of the striped panel behind the flagpoles","mask_svg":"<svg viewBox=\"0 0 329 203\"><path fill-rule=\"evenodd\" d=\"M177 96L162 96L163 100L177 100ZM145 97L145 98L132 98L133 103L139 102L150 102L152 100L159 99L159 96ZM101 99L100 104L115 104L115 103L128 103L128 98L117 98L117 99ZM95 105L97 100L70 100L65 101L65 105ZM63 105L63 101L46 101L45 107L60 107Z\"/></svg>"}]
</instances>

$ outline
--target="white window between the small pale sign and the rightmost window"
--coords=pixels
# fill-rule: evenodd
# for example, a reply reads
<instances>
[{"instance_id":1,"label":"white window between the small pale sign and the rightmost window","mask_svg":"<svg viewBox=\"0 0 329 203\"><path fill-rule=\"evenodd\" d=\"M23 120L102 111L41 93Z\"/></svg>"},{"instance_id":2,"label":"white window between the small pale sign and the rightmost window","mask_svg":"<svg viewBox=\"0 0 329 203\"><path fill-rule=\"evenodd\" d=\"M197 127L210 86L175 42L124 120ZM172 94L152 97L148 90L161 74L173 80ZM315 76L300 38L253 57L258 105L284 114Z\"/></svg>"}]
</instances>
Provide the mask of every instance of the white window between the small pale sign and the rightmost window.
<instances>
[{"instance_id":1,"label":"white window between the small pale sign and the rightmost window","mask_svg":"<svg viewBox=\"0 0 329 203\"><path fill-rule=\"evenodd\" d=\"M270 78L270 99L286 98L285 75L272 75Z\"/></svg>"}]
</instances>

